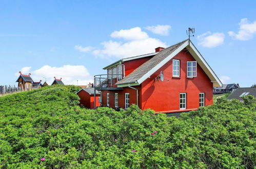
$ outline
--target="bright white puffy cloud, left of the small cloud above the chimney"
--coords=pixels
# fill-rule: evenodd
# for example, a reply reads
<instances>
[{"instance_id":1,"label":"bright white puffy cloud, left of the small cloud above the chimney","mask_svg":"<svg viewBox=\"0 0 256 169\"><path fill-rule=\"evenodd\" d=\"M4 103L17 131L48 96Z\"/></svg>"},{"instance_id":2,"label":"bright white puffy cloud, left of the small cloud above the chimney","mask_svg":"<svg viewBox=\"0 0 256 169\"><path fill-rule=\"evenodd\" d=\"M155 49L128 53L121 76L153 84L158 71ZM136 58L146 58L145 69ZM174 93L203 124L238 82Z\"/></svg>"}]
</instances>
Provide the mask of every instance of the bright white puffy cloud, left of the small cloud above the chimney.
<instances>
[{"instance_id":1,"label":"bright white puffy cloud, left of the small cloud above the chimney","mask_svg":"<svg viewBox=\"0 0 256 169\"><path fill-rule=\"evenodd\" d=\"M113 38L124 38L125 40L140 40L149 38L148 34L143 32L140 27L114 31L110 36Z\"/></svg>"}]
</instances>

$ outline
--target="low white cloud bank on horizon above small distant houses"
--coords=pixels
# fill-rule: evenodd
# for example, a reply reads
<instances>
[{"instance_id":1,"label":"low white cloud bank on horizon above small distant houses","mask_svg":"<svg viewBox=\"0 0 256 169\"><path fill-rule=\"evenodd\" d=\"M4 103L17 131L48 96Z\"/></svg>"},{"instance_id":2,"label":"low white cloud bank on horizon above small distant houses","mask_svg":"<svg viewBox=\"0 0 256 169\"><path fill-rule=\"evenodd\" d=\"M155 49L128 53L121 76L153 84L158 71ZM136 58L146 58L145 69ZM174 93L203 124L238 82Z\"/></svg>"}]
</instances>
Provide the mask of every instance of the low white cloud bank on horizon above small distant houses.
<instances>
[{"instance_id":1,"label":"low white cloud bank on horizon above small distant houses","mask_svg":"<svg viewBox=\"0 0 256 169\"><path fill-rule=\"evenodd\" d=\"M43 77L47 79L48 85L54 80L54 76L57 79L62 78L62 81L65 85L88 85L89 82L93 82L90 77L90 73L84 66L72 66L72 65L64 65L62 67L51 67L48 65L43 66L40 69L32 70L31 67L24 67L22 68L23 74L31 73L31 78L34 81L45 81ZM16 73L15 75L19 75Z\"/></svg>"}]
</instances>

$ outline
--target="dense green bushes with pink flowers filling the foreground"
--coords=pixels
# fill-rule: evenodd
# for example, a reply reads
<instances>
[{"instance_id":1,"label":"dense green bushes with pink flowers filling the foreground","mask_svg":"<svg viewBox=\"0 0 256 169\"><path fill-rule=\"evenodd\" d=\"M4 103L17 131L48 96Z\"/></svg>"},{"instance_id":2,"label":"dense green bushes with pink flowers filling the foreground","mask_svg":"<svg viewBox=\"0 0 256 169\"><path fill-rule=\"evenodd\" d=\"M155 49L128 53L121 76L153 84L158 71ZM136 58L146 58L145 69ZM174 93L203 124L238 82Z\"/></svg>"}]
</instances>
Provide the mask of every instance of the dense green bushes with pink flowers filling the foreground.
<instances>
[{"instance_id":1,"label":"dense green bushes with pink flowers filling the foreground","mask_svg":"<svg viewBox=\"0 0 256 169\"><path fill-rule=\"evenodd\" d=\"M77 88L0 97L0 168L253 168L256 101L219 98L180 118L87 110Z\"/></svg>"}]
</instances>

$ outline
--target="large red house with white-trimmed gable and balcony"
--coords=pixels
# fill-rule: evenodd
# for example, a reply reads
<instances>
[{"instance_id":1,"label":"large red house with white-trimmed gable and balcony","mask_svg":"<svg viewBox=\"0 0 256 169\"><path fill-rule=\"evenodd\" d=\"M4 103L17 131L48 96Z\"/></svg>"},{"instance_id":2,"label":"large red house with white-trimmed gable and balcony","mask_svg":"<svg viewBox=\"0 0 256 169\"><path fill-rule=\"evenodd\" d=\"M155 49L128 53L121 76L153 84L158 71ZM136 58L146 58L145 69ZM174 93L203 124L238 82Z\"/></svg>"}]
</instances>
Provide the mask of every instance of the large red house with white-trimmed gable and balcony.
<instances>
[{"instance_id":1,"label":"large red house with white-trimmed gable and balcony","mask_svg":"<svg viewBox=\"0 0 256 169\"><path fill-rule=\"evenodd\" d=\"M107 74L94 76L94 89L101 91L101 106L111 108L137 104L157 113L191 111L211 105L213 87L222 86L188 39L103 69Z\"/></svg>"}]
</instances>

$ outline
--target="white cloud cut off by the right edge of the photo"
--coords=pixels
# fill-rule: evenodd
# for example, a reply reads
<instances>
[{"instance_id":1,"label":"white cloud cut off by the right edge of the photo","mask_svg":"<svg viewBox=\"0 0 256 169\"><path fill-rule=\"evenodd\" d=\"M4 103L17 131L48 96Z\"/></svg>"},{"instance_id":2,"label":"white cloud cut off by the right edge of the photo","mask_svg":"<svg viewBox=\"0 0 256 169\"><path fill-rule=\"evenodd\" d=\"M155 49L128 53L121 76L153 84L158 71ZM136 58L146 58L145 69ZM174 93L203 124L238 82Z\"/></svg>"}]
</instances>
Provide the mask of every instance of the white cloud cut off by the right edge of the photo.
<instances>
[{"instance_id":1,"label":"white cloud cut off by the right edge of the photo","mask_svg":"<svg viewBox=\"0 0 256 169\"><path fill-rule=\"evenodd\" d=\"M256 21L249 23L247 18L242 18L239 23L239 32L236 34L233 31L229 31L229 36L239 40L249 40L256 34Z\"/></svg>"}]
</instances>

